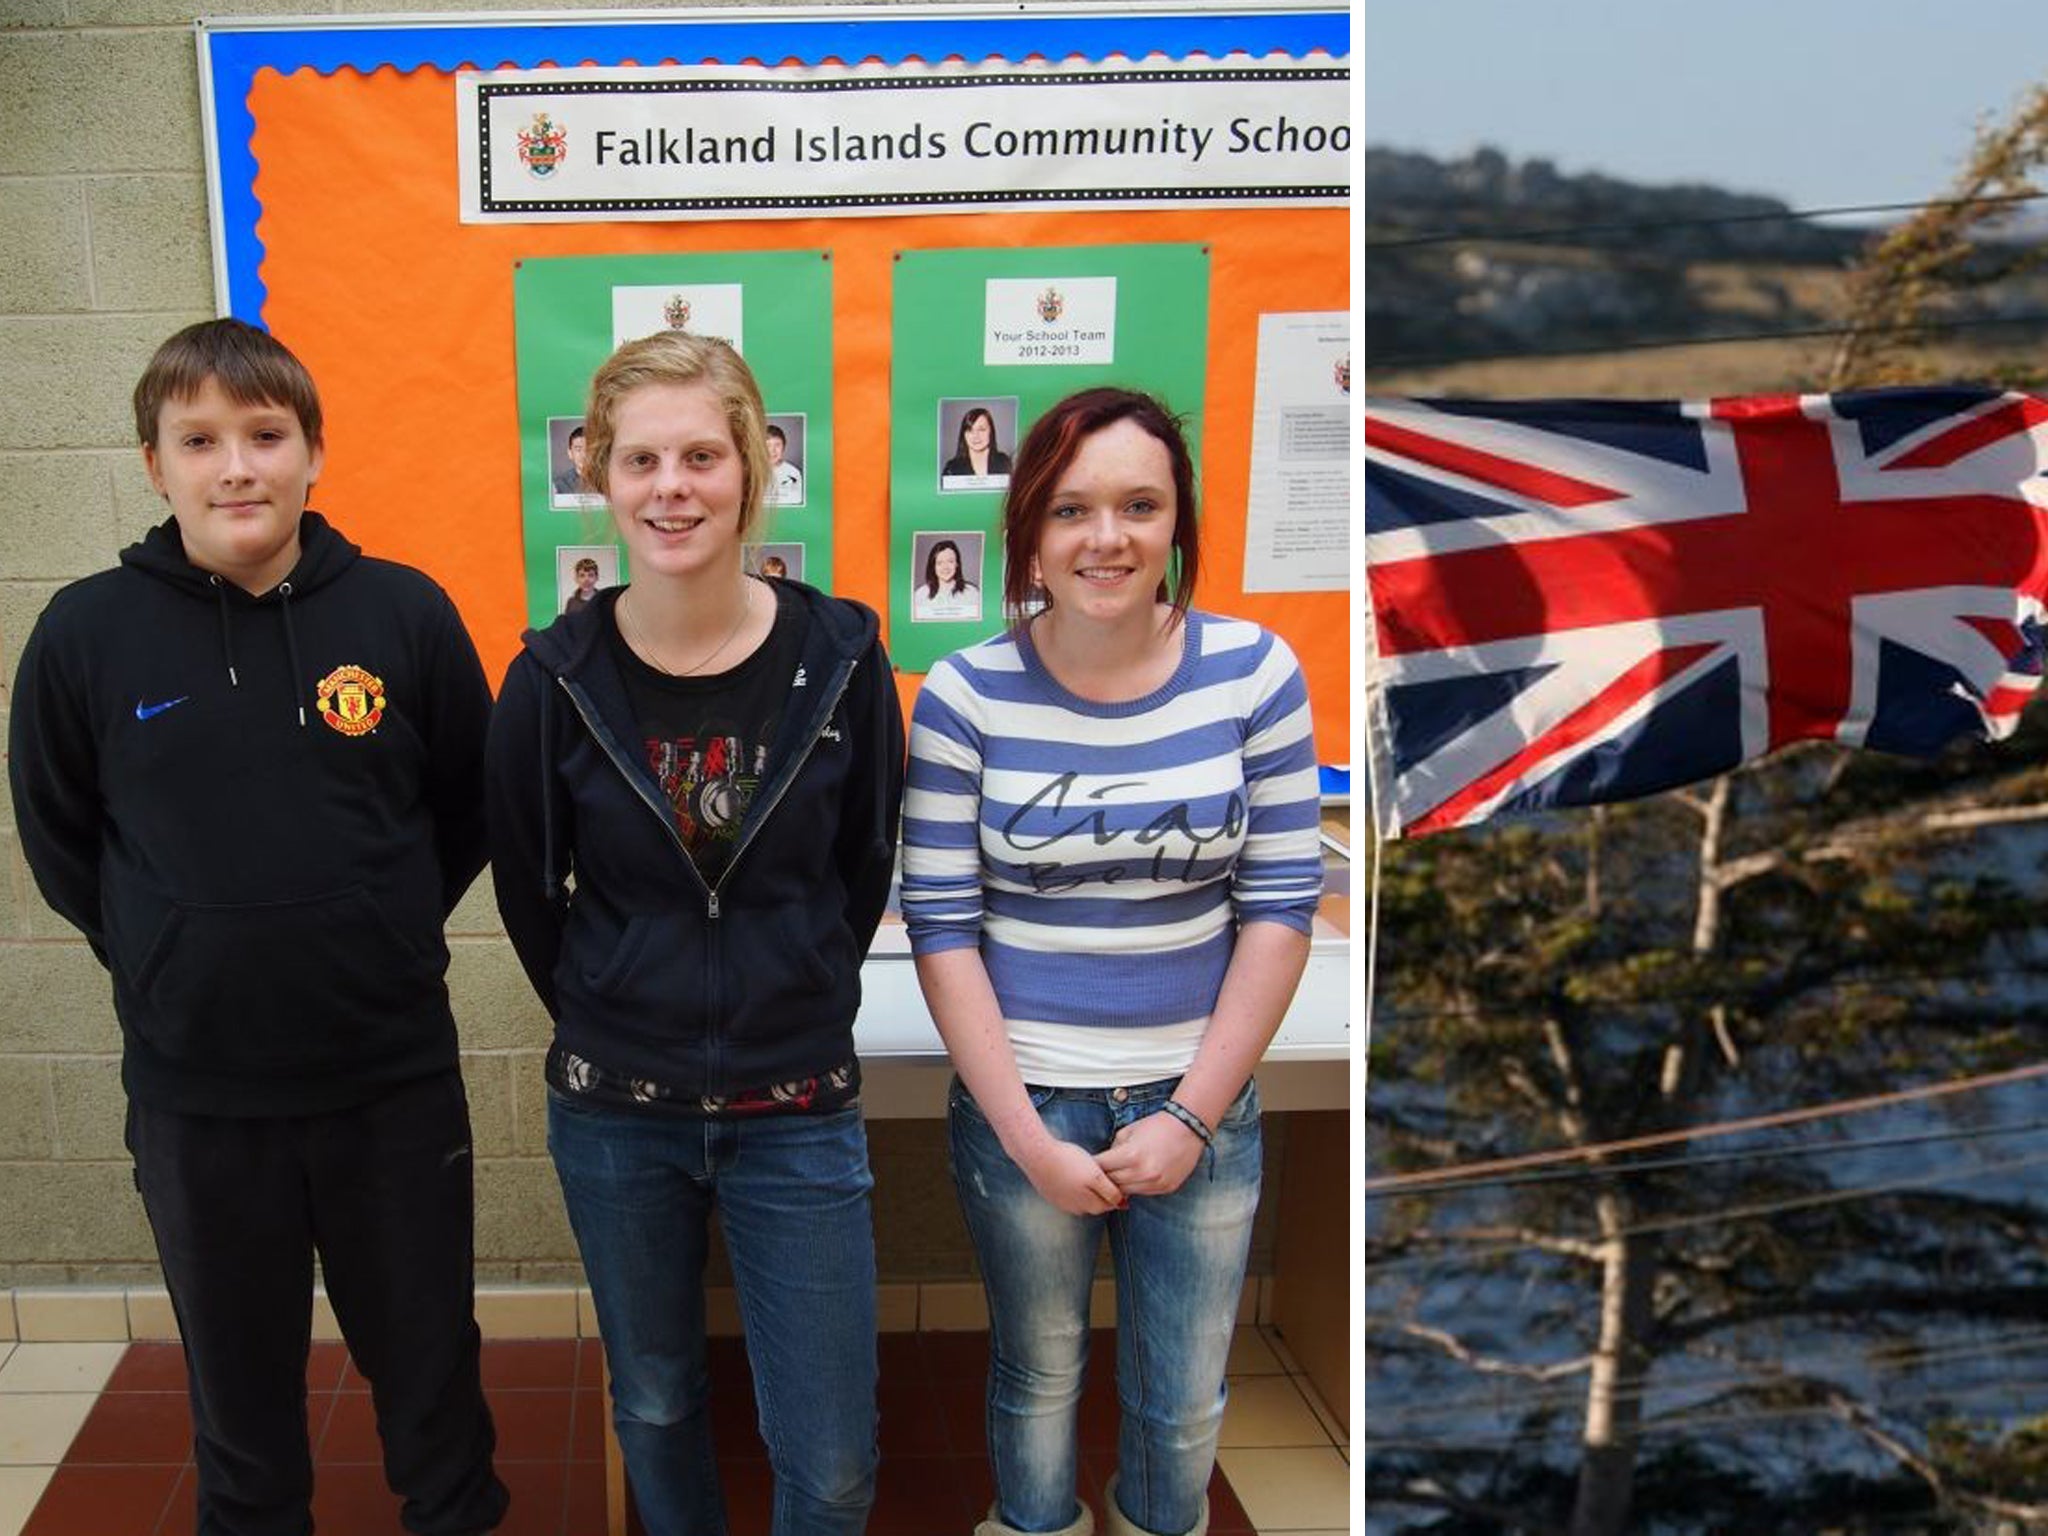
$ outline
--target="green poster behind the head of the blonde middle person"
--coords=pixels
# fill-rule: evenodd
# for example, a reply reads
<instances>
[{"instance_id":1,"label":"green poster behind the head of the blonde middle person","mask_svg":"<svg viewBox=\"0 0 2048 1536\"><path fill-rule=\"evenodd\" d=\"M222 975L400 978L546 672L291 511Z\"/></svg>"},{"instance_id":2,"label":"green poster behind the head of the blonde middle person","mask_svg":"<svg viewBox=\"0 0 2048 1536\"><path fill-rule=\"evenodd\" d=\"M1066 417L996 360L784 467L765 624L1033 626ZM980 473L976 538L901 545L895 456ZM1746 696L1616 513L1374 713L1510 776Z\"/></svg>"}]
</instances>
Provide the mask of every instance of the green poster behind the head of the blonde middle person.
<instances>
[{"instance_id":1,"label":"green poster behind the head of the blonde middle person","mask_svg":"<svg viewBox=\"0 0 2048 1536\"><path fill-rule=\"evenodd\" d=\"M604 498L578 479L590 375L664 328L723 336L754 369L776 459L748 567L831 588L831 260L819 250L549 256L512 281L526 614L631 580Z\"/></svg>"}]
</instances>

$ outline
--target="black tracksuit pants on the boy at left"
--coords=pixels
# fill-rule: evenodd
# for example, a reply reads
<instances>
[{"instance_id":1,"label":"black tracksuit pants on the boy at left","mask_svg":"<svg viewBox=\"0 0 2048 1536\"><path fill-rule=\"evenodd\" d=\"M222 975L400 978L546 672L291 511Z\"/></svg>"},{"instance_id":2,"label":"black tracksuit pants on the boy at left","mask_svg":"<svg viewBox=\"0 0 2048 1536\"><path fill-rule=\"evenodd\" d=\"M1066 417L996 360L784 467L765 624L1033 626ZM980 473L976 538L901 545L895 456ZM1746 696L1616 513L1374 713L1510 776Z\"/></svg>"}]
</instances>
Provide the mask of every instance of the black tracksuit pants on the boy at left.
<instances>
[{"instance_id":1,"label":"black tracksuit pants on the boy at left","mask_svg":"<svg viewBox=\"0 0 2048 1536\"><path fill-rule=\"evenodd\" d=\"M469 1102L457 1071L348 1110L129 1104L129 1151L184 1335L199 1536L307 1536L313 1253L420 1536L498 1524L477 1374Z\"/></svg>"}]
</instances>

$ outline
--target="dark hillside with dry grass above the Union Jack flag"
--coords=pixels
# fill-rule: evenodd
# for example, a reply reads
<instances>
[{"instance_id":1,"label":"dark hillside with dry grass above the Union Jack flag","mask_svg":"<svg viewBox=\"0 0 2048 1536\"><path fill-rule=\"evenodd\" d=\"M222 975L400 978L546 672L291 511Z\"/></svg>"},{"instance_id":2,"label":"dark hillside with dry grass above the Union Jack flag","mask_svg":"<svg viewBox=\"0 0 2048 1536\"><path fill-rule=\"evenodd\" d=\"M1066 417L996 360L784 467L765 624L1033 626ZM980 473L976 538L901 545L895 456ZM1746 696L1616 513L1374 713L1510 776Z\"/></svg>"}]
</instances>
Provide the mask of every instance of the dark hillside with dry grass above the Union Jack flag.
<instances>
[{"instance_id":1,"label":"dark hillside with dry grass above the Union Jack flag","mask_svg":"<svg viewBox=\"0 0 2048 1536\"><path fill-rule=\"evenodd\" d=\"M1868 231L1718 186L1561 174L1497 150L1366 152L1368 385L1397 393L1710 395L1812 389ZM2013 262L1989 250L1985 262ZM2048 311L2023 270L1952 313ZM1649 340L1700 346L1649 348ZM1759 338L1729 344L1722 338ZM1767 338L1767 340L1765 340ZM1948 377L2009 377L2036 330L1944 338ZM1565 356L1544 356L1565 354Z\"/></svg>"}]
</instances>

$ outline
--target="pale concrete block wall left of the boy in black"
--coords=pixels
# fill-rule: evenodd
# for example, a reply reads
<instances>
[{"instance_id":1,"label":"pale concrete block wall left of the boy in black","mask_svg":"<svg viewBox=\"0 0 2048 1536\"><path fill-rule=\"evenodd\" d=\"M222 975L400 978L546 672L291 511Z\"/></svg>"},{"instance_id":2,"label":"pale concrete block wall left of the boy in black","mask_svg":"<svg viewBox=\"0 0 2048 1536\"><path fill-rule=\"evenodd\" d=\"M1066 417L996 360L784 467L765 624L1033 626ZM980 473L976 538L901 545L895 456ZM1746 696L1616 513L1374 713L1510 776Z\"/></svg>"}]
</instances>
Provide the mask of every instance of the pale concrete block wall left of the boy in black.
<instances>
[{"instance_id":1,"label":"pale concrete block wall left of the boy in black","mask_svg":"<svg viewBox=\"0 0 2048 1536\"><path fill-rule=\"evenodd\" d=\"M123 10L12 0L0 27L0 92L12 102L0 135L8 692L49 594L111 565L156 520L125 393L166 334L213 313L190 18ZM37 895L8 807L0 1286L156 1276L121 1145L119 1049L106 977Z\"/></svg>"}]
</instances>

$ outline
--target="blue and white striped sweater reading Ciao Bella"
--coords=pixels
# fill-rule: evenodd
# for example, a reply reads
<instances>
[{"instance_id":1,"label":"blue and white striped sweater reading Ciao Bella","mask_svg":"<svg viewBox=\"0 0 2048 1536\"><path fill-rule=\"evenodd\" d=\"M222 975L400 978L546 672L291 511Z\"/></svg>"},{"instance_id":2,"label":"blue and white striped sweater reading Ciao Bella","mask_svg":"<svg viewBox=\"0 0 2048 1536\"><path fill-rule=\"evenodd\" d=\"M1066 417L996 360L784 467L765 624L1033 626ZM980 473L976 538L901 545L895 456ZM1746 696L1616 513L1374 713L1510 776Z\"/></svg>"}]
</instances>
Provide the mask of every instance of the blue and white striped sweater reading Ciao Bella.
<instances>
[{"instance_id":1,"label":"blue and white striped sweater reading Ciao Bella","mask_svg":"<svg viewBox=\"0 0 2048 1536\"><path fill-rule=\"evenodd\" d=\"M1026 1081L1184 1071L1237 924L1309 930L1309 696L1257 625L1188 614L1174 678L1118 705L1001 635L932 670L909 750L911 948L979 946Z\"/></svg>"}]
</instances>

